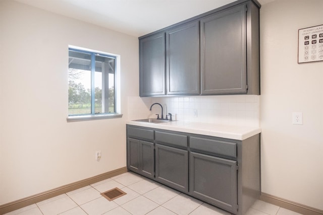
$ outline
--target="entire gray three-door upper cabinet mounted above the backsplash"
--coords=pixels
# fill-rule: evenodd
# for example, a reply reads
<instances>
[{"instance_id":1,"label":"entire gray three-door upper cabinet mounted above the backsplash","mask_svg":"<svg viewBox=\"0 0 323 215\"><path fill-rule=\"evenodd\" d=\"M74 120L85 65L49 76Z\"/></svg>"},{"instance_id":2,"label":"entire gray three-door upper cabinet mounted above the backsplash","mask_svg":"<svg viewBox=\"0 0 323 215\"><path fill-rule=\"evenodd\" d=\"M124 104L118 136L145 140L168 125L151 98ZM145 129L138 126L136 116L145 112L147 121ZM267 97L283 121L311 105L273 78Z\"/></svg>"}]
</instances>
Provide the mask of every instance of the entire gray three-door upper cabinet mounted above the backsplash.
<instances>
[{"instance_id":1,"label":"entire gray three-door upper cabinet mounted above the backsplash","mask_svg":"<svg viewBox=\"0 0 323 215\"><path fill-rule=\"evenodd\" d=\"M139 37L140 96L259 95L259 8L238 0Z\"/></svg>"}]
</instances>

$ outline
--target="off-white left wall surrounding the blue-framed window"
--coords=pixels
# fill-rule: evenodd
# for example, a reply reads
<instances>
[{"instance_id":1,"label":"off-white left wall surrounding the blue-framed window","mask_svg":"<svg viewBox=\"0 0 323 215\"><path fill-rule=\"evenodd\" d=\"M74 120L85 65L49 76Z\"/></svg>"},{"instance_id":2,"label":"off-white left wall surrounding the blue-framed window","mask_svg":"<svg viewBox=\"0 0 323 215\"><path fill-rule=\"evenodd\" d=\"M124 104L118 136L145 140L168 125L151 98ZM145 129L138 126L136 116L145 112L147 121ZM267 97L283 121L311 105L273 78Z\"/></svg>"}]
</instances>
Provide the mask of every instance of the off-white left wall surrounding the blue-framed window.
<instances>
[{"instance_id":1,"label":"off-white left wall surrounding the blue-framed window","mask_svg":"<svg viewBox=\"0 0 323 215\"><path fill-rule=\"evenodd\" d=\"M0 32L0 205L125 167L138 38L9 0ZM68 45L121 55L122 118L66 121Z\"/></svg>"}]
</instances>

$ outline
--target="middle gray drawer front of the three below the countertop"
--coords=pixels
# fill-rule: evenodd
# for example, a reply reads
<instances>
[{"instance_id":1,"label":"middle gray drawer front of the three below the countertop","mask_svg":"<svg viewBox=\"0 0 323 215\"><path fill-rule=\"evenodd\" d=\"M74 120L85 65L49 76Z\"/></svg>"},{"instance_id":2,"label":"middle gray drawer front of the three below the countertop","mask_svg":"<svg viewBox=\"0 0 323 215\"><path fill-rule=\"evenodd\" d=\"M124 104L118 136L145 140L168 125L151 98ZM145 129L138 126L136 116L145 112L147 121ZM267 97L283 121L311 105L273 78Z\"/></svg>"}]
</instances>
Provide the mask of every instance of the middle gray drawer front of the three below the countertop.
<instances>
[{"instance_id":1,"label":"middle gray drawer front of the three below the countertop","mask_svg":"<svg viewBox=\"0 0 323 215\"><path fill-rule=\"evenodd\" d=\"M170 144L179 147L187 147L187 135L155 131L155 140L159 143Z\"/></svg>"}]
</instances>

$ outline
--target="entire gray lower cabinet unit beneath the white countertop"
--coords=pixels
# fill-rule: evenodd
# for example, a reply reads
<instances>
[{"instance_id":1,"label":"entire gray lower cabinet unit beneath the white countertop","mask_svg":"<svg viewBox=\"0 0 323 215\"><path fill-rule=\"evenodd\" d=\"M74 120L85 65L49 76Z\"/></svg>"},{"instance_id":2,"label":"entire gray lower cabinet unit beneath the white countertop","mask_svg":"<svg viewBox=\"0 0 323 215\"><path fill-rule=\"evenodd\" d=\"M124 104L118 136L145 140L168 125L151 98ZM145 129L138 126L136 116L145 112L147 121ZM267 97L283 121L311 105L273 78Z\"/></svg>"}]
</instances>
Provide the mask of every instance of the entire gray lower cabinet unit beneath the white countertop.
<instances>
[{"instance_id":1,"label":"entire gray lower cabinet unit beneath the white countertop","mask_svg":"<svg viewBox=\"0 0 323 215\"><path fill-rule=\"evenodd\" d=\"M260 196L260 134L236 140L127 125L127 168L243 215Z\"/></svg>"}]
</instances>

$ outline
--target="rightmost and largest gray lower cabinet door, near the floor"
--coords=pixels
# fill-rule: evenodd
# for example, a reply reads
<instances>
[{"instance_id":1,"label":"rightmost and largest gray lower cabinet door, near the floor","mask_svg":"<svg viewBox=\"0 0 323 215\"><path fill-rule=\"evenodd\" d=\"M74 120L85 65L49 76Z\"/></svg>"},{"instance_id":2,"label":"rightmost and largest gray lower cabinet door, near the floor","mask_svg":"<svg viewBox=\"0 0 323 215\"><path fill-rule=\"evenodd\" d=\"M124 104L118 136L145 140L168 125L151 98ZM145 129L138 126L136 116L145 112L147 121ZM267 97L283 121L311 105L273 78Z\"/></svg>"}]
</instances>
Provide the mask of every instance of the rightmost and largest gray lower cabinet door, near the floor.
<instances>
[{"instance_id":1,"label":"rightmost and largest gray lower cabinet door, near the floor","mask_svg":"<svg viewBox=\"0 0 323 215\"><path fill-rule=\"evenodd\" d=\"M237 212L237 162L190 153L190 194Z\"/></svg>"}]
</instances>

